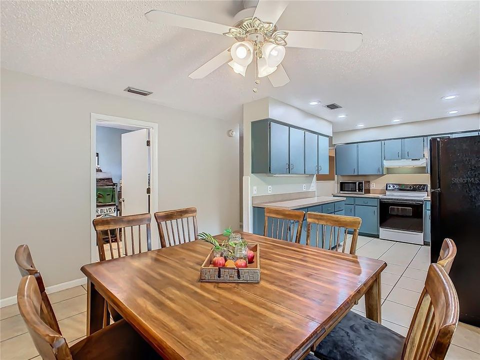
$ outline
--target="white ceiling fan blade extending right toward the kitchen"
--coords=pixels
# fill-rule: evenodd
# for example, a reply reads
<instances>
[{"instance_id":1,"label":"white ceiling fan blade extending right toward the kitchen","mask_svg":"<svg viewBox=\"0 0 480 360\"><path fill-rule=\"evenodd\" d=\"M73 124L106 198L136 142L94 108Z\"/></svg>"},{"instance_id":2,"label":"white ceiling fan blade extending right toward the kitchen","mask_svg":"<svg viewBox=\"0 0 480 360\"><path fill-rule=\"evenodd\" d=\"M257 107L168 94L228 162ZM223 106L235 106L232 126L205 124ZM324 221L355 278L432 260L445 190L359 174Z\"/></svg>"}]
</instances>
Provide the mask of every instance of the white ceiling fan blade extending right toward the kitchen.
<instances>
[{"instance_id":1,"label":"white ceiling fan blade extending right toward the kitchen","mask_svg":"<svg viewBox=\"0 0 480 360\"><path fill-rule=\"evenodd\" d=\"M361 45L361 32L286 30L286 45L325 50L354 51Z\"/></svg>"}]
</instances>

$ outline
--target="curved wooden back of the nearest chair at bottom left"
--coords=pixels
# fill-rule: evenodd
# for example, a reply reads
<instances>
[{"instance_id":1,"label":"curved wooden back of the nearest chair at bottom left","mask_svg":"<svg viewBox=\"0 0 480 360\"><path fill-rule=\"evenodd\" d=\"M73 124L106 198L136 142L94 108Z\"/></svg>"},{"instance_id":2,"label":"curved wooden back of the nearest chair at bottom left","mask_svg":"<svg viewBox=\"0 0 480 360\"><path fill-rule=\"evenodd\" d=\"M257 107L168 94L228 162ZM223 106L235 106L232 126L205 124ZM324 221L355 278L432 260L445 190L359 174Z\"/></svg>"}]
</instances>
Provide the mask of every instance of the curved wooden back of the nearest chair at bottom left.
<instances>
[{"instance_id":1,"label":"curved wooden back of the nearest chair at bottom left","mask_svg":"<svg viewBox=\"0 0 480 360\"><path fill-rule=\"evenodd\" d=\"M65 338L51 328L42 316L43 299L34 276L21 278L17 304L40 356L45 360L72 360Z\"/></svg>"}]
</instances>

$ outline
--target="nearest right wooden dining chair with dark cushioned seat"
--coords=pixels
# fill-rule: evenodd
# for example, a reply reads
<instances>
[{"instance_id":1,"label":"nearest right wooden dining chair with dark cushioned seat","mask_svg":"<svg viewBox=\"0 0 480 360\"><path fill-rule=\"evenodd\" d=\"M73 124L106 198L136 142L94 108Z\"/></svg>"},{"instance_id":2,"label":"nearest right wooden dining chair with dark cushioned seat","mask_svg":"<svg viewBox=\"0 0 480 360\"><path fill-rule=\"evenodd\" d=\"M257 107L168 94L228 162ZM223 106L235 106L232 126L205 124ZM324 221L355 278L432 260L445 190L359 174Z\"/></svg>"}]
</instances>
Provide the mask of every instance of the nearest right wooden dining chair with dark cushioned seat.
<instances>
[{"instance_id":1,"label":"nearest right wooden dining chair with dark cushioned seat","mask_svg":"<svg viewBox=\"0 0 480 360\"><path fill-rule=\"evenodd\" d=\"M406 337L349 311L315 348L314 354L322 360L443 360L458 314L453 283L444 268L433 263L428 268Z\"/></svg>"}]
</instances>

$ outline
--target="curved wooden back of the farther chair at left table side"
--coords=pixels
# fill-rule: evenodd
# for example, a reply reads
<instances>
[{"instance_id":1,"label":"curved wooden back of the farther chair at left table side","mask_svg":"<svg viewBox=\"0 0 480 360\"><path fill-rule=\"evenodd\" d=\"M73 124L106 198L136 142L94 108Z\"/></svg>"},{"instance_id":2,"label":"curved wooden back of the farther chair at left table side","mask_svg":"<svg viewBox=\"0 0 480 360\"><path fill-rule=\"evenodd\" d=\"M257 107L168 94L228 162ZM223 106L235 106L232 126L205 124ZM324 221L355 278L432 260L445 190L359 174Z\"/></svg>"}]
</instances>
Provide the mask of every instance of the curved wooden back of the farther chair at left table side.
<instances>
[{"instance_id":1,"label":"curved wooden back of the farther chair at left table side","mask_svg":"<svg viewBox=\"0 0 480 360\"><path fill-rule=\"evenodd\" d=\"M60 326L56 320L55 313L50 303L50 299L45 291L45 286L43 285L43 279L41 277L40 271L35 267L33 259L31 257L30 249L28 245L19 245L15 250L15 262L18 266L21 276L25 277L31 275L35 278L38 285L38 291L40 292L41 297L41 311L40 314L45 321L45 323L55 330L57 333L61 334Z\"/></svg>"}]
</instances>

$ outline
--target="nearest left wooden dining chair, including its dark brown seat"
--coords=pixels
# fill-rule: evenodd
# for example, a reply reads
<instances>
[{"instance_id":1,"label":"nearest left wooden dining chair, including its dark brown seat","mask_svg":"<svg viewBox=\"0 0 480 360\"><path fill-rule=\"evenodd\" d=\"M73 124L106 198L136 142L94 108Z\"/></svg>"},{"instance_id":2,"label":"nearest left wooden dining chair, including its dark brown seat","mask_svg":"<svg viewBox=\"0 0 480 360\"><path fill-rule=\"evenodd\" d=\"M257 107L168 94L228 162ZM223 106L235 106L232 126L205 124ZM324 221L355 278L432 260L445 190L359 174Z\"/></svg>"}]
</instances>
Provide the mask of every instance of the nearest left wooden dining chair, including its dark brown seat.
<instances>
[{"instance_id":1,"label":"nearest left wooden dining chair, including its dark brown seat","mask_svg":"<svg viewBox=\"0 0 480 360\"><path fill-rule=\"evenodd\" d=\"M33 275L23 276L17 292L17 304L33 343L43 359L113 360L160 359L161 357L125 320L68 346L52 313L43 311L45 302ZM55 326L51 326L52 324Z\"/></svg>"}]
</instances>

